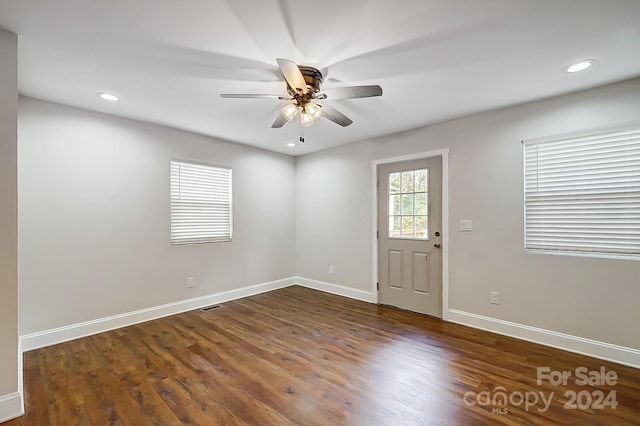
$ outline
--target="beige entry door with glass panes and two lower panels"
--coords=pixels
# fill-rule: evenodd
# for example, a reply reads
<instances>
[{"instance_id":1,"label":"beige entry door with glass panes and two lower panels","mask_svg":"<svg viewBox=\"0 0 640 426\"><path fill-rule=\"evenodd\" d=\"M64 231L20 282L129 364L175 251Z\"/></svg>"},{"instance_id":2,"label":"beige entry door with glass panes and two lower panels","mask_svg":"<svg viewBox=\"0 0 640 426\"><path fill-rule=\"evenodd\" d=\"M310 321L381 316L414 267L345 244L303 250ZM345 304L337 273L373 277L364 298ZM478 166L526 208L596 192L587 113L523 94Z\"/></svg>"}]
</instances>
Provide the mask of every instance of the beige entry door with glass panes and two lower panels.
<instances>
[{"instance_id":1,"label":"beige entry door with glass panes and two lower panels","mask_svg":"<svg viewBox=\"0 0 640 426\"><path fill-rule=\"evenodd\" d=\"M378 300L442 317L442 158L378 166Z\"/></svg>"}]
</instances>

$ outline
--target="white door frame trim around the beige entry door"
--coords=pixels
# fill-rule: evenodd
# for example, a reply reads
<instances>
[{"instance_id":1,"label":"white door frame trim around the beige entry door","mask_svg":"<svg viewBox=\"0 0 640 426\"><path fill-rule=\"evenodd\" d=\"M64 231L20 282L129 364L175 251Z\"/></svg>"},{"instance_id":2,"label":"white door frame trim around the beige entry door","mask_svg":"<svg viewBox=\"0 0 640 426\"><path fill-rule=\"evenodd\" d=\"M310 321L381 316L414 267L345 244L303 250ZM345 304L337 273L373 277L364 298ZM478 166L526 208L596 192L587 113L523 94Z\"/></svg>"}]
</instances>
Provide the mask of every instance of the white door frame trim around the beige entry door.
<instances>
[{"instance_id":1,"label":"white door frame trim around the beige entry door","mask_svg":"<svg viewBox=\"0 0 640 426\"><path fill-rule=\"evenodd\" d=\"M399 157L381 158L371 162L371 194L372 194L372 251L373 259L373 283L371 288L375 303L379 303L378 291L378 166L380 164L399 163L401 161L420 160L423 158L442 158L442 319L448 319L449 315L449 148L433 151L419 152L416 154L402 155Z\"/></svg>"}]
</instances>

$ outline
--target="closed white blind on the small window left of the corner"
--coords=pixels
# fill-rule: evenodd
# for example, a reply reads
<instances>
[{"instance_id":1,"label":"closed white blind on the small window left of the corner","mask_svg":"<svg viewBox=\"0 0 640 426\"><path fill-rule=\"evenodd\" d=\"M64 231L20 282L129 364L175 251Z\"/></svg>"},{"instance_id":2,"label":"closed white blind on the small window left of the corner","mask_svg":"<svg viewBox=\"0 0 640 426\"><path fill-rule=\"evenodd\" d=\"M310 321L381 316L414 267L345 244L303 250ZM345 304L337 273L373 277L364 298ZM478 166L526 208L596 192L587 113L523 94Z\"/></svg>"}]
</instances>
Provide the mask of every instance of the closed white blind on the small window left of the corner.
<instances>
[{"instance_id":1,"label":"closed white blind on the small window left of the corner","mask_svg":"<svg viewBox=\"0 0 640 426\"><path fill-rule=\"evenodd\" d=\"M171 244L231 241L231 169L171 161Z\"/></svg>"}]
</instances>

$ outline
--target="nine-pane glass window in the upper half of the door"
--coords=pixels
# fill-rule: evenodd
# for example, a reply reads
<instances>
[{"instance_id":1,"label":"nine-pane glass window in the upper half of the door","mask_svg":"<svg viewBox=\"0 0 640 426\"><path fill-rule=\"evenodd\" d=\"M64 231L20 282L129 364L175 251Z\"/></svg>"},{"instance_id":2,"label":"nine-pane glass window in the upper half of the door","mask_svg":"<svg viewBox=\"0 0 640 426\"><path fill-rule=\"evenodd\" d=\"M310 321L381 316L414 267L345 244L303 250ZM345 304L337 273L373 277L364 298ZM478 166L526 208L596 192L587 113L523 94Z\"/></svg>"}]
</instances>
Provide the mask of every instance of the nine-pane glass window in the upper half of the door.
<instances>
[{"instance_id":1,"label":"nine-pane glass window in the upper half of the door","mask_svg":"<svg viewBox=\"0 0 640 426\"><path fill-rule=\"evenodd\" d=\"M427 169L389 173L389 238L426 240Z\"/></svg>"}]
</instances>

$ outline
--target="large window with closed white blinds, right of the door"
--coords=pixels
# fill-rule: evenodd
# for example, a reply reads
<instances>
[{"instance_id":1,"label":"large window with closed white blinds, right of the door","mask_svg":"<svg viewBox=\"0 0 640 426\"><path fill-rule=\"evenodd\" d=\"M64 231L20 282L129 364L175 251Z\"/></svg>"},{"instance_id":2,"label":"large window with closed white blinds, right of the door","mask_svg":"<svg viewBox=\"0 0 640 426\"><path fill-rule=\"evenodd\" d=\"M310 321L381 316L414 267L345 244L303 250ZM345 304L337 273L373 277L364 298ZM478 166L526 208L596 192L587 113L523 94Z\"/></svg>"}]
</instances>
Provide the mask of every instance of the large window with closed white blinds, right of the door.
<instances>
[{"instance_id":1,"label":"large window with closed white blinds, right of the door","mask_svg":"<svg viewBox=\"0 0 640 426\"><path fill-rule=\"evenodd\" d=\"M640 255L640 122L523 143L526 249Z\"/></svg>"}]
</instances>

